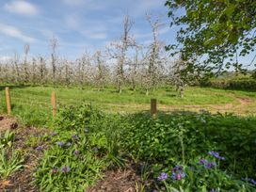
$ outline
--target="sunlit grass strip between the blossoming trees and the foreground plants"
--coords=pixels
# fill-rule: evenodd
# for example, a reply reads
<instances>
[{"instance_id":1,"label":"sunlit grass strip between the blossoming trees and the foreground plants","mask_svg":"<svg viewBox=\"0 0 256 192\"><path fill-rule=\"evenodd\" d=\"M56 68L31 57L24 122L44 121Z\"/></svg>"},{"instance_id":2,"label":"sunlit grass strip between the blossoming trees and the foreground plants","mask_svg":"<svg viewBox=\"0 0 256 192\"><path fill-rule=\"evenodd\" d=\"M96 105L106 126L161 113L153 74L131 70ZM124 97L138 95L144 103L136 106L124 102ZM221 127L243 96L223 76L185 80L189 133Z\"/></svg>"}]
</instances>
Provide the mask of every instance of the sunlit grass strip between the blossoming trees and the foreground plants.
<instances>
[{"instance_id":1,"label":"sunlit grass strip between the blossoming trees and the foreground plants","mask_svg":"<svg viewBox=\"0 0 256 192\"><path fill-rule=\"evenodd\" d=\"M65 88L65 87L15 87L9 86L13 115L20 116L24 121L40 117L40 120L51 118L50 96L56 91L57 105L89 103L111 113L133 113L149 110L151 98L156 98L158 110L189 110L201 109L210 112L232 112L239 115L256 113L256 94L249 91L224 90L216 88L186 88L184 99L176 96L171 87L159 88L146 96L142 90L136 92L126 88L119 94L115 88L98 91L96 88ZM5 87L1 90L2 110L6 110ZM29 121L28 120L28 121ZM30 122L29 122L30 124ZM35 125L35 124L34 124Z\"/></svg>"}]
</instances>

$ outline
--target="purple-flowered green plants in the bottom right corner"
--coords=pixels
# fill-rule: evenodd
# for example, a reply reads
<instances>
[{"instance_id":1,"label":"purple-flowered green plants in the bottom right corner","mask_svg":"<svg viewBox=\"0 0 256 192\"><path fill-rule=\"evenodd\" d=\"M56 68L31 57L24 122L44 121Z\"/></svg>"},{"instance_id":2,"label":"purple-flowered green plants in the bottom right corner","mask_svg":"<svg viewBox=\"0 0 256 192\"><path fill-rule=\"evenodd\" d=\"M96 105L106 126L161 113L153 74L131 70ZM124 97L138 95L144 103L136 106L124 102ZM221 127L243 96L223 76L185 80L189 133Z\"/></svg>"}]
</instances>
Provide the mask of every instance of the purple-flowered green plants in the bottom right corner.
<instances>
[{"instance_id":1,"label":"purple-flowered green plants in the bottom right corner","mask_svg":"<svg viewBox=\"0 0 256 192\"><path fill-rule=\"evenodd\" d=\"M255 191L255 183L238 180L219 168L219 162L225 158L218 152L209 152L216 158L196 158L189 166L176 166L157 177L160 191ZM217 160L217 161L216 161ZM164 189L164 190L161 190Z\"/></svg>"}]
</instances>

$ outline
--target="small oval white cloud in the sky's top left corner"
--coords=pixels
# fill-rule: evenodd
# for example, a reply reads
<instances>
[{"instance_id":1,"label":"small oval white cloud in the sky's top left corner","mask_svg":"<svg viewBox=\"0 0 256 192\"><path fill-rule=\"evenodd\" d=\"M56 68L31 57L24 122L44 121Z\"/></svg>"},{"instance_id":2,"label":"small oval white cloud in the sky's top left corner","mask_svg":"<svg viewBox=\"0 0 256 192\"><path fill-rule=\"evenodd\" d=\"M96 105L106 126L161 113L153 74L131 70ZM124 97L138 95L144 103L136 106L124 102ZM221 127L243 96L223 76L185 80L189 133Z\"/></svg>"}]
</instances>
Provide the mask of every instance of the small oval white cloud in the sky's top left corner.
<instances>
[{"instance_id":1,"label":"small oval white cloud in the sky's top left corner","mask_svg":"<svg viewBox=\"0 0 256 192\"><path fill-rule=\"evenodd\" d=\"M9 12L24 16L35 16L39 14L39 9L36 6L25 2L24 0L12 1L11 3L5 5L5 9Z\"/></svg>"}]
</instances>

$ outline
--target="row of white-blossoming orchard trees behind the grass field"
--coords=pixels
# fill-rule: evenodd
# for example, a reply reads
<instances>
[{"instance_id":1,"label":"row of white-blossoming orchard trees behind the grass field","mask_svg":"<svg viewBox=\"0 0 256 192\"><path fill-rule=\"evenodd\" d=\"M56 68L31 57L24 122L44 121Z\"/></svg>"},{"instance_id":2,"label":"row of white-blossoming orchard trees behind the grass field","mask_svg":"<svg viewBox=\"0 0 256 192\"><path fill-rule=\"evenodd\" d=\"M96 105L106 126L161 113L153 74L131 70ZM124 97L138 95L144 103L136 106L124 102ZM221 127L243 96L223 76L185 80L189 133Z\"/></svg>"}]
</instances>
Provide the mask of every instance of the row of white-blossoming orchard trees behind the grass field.
<instances>
[{"instance_id":1,"label":"row of white-blossoming orchard trees behind the grass field","mask_svg":"<svg viewBox=\"0 0 256 192\"><path fill-rule=\"evenodd\" d=\"M171 59L166 52L165 42L159 40L160 18L147 15L152 28L152 42L139 44L131 33L134 22L129 16L123 19L123 31L119 40L113 40L103 50L85 52L75 60L58 56L58 41L49 40L51 55L29 56L30 46L24 45L24 56L14 54L0 63L0 83L17 85L65 85L94 86L104 89L115 85L118 92L125 87L136 88L149 94L163 84L175 85L183 94L191 77L184 69L182 59ZM192 75L193 76L193 75ZM191 82L191 81L190 81Z\"/></svg>"}]
</instances>

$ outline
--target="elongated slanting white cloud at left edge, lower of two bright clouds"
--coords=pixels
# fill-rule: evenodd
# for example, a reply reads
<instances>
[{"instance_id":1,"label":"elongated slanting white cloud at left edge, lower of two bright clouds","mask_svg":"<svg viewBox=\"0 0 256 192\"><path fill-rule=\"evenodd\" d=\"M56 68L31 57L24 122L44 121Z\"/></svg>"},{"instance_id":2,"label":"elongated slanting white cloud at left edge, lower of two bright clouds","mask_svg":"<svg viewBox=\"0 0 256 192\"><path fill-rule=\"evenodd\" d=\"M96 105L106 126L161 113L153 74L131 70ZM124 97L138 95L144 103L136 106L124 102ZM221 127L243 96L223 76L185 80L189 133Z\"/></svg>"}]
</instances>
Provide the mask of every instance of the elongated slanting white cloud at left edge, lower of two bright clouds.
<instances>
[{"instance_id":1,"label":"elongated slanting white cloud at left edge, lower of two bright clouds","mask_svg":"<svg viewBox=\"0 0 256 192\"><path fill-rule=\"evenodd\" d=\"M23 40L24 42L33 42L35 41L33 38L30 38L24 35L18 28L15 26L11 26L8 24L0 24L0 33L19 40Z\"/></svg>"}]
</instances>

